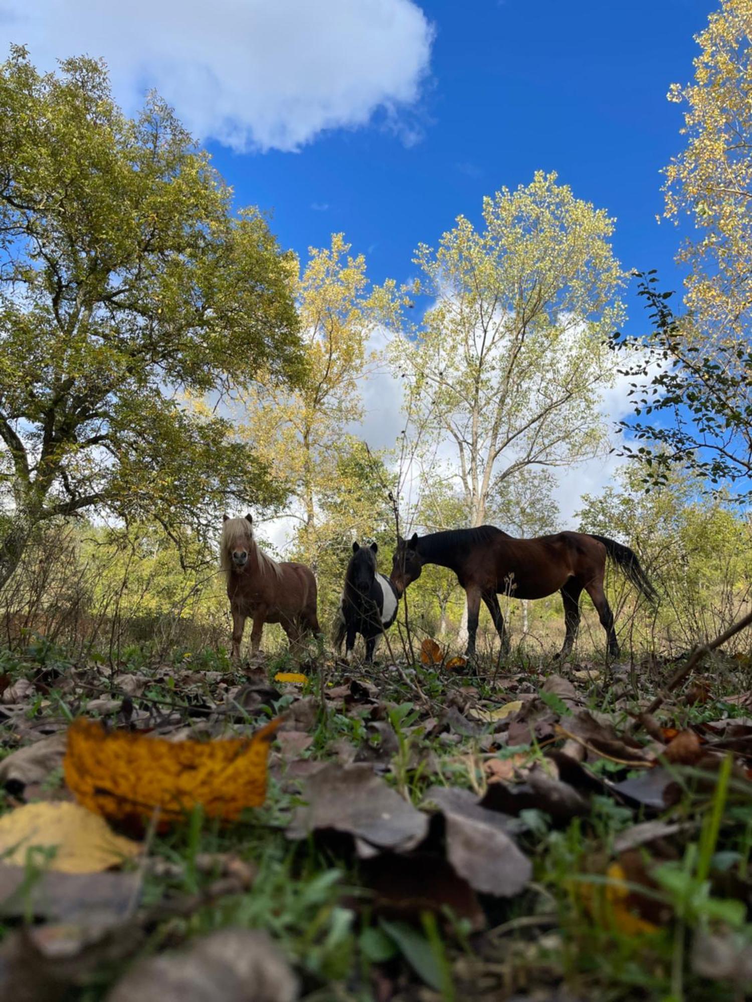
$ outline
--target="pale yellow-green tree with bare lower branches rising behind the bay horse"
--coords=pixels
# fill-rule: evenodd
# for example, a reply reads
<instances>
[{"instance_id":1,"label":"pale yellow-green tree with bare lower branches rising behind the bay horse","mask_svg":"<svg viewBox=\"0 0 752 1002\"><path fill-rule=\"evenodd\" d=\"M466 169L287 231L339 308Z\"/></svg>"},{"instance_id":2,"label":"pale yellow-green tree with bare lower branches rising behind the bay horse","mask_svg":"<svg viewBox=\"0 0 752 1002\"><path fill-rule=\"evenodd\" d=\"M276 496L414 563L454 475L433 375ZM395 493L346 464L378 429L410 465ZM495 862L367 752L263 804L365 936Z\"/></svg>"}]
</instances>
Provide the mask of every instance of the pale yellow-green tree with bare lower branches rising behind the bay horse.
<instances>
[{"instance_id":1,"label":"pale yellow-green tree with bare lower branches rising behind the bay horse","mask_svg":"<svg viewBox=\"0 0 752 1002\"><path fill-rule=\"evenodd\" d=\"M485 198L483 221L459 216L438 249L418 248L413 293L431 306L418 325L403 318L407 336L391 345L414 423L453 447L470 525L521 470L604 447L605 342L622 316L613 221L555 174Z\"/></svg>"}]
</instances>

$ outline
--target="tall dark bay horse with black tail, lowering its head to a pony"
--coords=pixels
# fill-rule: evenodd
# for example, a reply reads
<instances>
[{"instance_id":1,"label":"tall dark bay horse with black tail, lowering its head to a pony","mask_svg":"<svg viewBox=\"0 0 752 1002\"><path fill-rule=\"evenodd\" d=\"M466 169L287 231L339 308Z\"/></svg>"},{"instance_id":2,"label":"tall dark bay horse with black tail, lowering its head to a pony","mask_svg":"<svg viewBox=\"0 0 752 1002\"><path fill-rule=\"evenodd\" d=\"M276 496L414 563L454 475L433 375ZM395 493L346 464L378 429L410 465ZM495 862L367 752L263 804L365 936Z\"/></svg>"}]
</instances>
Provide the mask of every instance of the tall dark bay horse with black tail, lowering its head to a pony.
<instances>
[{"instance_id":1,"label":"tall dark bay horse with black tail, lowering its head to a pony","mask_svg":"<svg viewBox=\"0 0 752 1002\"><path fill-rule=\"evenodd\" d=\"M397 593L402 595L408 584L420 577L424 564L439 564L453 570L467 595L468 656L475 653L481 599L491 614L502 648L505 648L508 641L496 595L503 592L515 598L544 598L560 591L567 634L556 656L565 657L577 637L580 595L585 589L606 630L609 655L618 657L614 613L604 591L607 557L651 602L655 599L653 585L629 546L606 536L583 532L514 539L492 525L434 532L420 538L415 533L409 540L398 536L391 580Z\"/></svg>"}]
</instances>

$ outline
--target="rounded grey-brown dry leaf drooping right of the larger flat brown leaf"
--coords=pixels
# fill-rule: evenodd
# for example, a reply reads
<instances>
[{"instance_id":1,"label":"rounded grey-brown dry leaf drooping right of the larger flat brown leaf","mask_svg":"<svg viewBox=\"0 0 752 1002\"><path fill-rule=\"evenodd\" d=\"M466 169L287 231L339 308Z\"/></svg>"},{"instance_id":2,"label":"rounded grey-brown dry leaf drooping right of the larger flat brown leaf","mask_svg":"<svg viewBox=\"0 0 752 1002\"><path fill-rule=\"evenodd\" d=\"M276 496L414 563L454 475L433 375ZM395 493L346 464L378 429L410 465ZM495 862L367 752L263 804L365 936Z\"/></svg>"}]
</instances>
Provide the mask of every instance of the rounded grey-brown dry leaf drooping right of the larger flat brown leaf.
<instances>
[{"instance_id":1,"label":"rounded grey-brown dry leaf drooping right of the larger flat brown leaf","mask_svg":"<svg viewBox=\"0 0 752 1002\"><path fill-rule=\"evenodd\" d=\"M519 894L532 874L530 861L509 835L519 823L480 807L469 790L431 787L426 800L444 816L446 854L460 877L483 894Z\"/></svg>"}]
</instances>

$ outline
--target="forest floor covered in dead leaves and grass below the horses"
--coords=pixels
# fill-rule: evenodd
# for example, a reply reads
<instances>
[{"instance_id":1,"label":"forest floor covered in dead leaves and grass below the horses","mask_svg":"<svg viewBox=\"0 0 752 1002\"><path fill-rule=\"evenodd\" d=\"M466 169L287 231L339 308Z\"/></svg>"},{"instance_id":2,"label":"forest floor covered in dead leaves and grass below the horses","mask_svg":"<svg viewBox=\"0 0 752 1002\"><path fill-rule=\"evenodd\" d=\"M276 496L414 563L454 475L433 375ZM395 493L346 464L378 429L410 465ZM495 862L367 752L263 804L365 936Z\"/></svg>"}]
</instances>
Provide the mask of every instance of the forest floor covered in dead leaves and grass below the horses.
<instances>
[{"instance_id":1,"label":"forest floor covered in dead leaves and grass below the horses","mask_svg":"<svg viewBox=\"0 0 752 1002\"><path fill-rule=\"evenodd\" d=\"M431 642L386 654L287 680L284 659L0 651L0 997L750 997L752 658L713 655L638 724L681 658L473 674ZM63 765L80 716L148 731L140 758L95 733L86 787ZM248 784L181 758L185 737L219 755L280 718ZM213 817L254 803L267 752L264 803ZM123 801L197 777L205 809L134 830ZM137 840L117 869L63 833L71 787ZM28 805L47 813L24 828Z\"/></svg>"}]
</instances>

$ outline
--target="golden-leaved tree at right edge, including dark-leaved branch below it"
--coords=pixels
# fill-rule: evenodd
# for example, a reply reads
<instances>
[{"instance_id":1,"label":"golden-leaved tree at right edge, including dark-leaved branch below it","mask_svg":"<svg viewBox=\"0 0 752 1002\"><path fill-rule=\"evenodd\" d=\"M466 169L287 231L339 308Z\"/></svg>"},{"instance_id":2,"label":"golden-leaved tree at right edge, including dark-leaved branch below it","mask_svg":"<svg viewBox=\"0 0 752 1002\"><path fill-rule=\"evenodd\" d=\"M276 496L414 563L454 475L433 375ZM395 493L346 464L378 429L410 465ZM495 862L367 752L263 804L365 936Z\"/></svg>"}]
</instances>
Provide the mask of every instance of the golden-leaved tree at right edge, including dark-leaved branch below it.
<instances>
[{"instance_id":1,"label":"golden-leaved tree at right edge, including dark-leaved branch below it","mask_svg":"<svg viewBox=\"0 0 752 1002\"><path fill-rule=\"evenodd\" d=\"M670 293L643 276L653 322L647 339L621 339L647 358L636 377L637 417L648 484L689 465L712 490L752 497L752 5L723 0L697 36L695 80L673 84L684 111L685 148L666 169L666 216L691 225L677 263L688 269L682 315ZM681 310L677 311L681 314ZM644 420L645 417L649 420ZM667 421L666 418L669 420Z\"/></svg>"}]
</instances>

